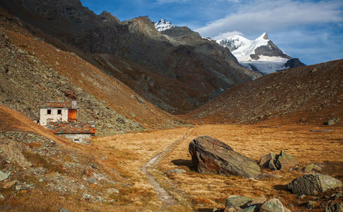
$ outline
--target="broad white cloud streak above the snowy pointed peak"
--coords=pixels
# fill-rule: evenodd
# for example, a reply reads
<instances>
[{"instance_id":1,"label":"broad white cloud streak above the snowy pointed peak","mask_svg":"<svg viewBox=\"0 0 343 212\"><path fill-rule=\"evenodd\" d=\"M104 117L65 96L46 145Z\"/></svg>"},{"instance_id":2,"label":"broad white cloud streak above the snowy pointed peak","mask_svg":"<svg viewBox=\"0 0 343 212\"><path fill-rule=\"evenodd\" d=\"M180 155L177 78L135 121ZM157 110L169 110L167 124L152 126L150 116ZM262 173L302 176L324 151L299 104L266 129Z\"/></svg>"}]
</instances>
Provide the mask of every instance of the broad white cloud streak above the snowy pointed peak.
<instances>
[{"instance_id":1,"label":"broad white cloud streak above the snowy pointed peak","mask_svg":"<svg viewBox=\"0 0 343 212\"><path fill-rule=\"evenodd\" d=\"M161 0L162 1L162 0ZM237 12L196 29L202 36L217 38L233 30L248 34L292 27L343 22L343 1L253 0Z\"/></svg>"}]
</instances>

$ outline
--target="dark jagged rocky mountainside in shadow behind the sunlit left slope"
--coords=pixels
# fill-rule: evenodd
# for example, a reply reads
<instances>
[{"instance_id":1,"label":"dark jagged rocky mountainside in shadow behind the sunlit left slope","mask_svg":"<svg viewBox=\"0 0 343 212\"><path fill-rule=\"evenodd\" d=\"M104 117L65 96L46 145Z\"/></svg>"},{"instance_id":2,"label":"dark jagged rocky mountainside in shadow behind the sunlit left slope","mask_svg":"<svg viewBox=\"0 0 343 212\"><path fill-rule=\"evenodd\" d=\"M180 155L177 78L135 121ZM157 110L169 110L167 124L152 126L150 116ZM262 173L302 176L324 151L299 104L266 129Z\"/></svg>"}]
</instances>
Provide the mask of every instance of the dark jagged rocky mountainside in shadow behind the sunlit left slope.
<instances>
[{"instance_id":1,"label":"dark jagged rocky mountainside in shadow behind the sunlit left slope","mask_svg":"<svg viewBox=\"0 0 343 212\"><path fill-rule=\"evenodd\" d=\"M97 16L79 0L4 4L43 31L49 42L78 53L172 113L195 109L209 101L212 93L261 76L239 66L228 49L189 29L178 32L180 36L187 34L184 39L161 34L147 17L121 23L107 12ZM148 85L147 77L154 86Z\"/></svg>"}]
</instances>

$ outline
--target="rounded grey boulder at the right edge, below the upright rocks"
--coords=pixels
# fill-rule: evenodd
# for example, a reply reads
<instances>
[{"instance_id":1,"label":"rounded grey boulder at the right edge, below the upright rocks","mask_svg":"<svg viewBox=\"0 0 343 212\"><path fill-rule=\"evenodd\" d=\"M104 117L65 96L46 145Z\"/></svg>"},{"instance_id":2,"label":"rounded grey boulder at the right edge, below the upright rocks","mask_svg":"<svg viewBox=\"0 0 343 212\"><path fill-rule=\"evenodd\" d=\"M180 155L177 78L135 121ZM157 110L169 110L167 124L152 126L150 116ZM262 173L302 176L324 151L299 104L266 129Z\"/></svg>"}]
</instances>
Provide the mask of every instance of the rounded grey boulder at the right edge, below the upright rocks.
<instances>
[{"instance_id":1,"label":"rounded grey boulder at the right edge, below the upright rocks","mask_svg":"<svg viewBox=\"0 0 343 212\"><path fill-rule=\"evenodd\" d=\"M340 186L342 181L324 174L305 174L288 184L288 188L299 195L317 195Z\"/></svg>"}]
</instances>

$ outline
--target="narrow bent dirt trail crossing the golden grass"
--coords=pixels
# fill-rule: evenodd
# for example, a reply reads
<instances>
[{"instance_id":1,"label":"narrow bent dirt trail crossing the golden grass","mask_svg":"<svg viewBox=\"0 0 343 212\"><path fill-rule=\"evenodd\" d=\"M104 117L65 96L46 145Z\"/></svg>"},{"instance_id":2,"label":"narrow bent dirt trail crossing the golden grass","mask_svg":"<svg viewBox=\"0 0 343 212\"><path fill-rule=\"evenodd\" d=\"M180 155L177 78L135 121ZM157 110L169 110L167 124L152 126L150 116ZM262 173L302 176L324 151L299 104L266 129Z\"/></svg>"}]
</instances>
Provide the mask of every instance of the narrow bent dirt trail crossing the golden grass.
<instances>
[{"instance_id":1,"label":"narrow bent dirt trail crossing the golden grass","mask_svg":"<svg viewBox=\"0 0 343 212\"><path fill-rule=\"evenodd\" d=\"M190 131L189 131L190 132ZM176 142L174 142L173 144L170 144L165 150L163 150L161 153L158 153L158 155L156 155L155 157L153 157L152 159L150 159L150 161L148 161L142 168L141 171L143 172L143 174L145 174L145 176L147 176L147 178L149 179L149 183L152 185L152 187L154 187L155 191L158 194L158 198L160 198L160 200L163 202L163 204L166 205L176 205L177 201L174 199L173 196L171 196L165 189L163 189L163 187L155 180L154 176L152 176L151 174L149 174L147 172L147 170L152 170L154 168L156 168L156 165L158 164L159 161L161 161L161 159L163 159L163 157L165 157L165 155L167 155L168 153L170 153L170 151L177 146L178 144L180 144L180 142L182 142L183 140L185 140L185 138L187 137L187 135L189 134L189 132L185 133L185 135L183 135L179 140L176 140Z\"/></svg>"}]
</instances>

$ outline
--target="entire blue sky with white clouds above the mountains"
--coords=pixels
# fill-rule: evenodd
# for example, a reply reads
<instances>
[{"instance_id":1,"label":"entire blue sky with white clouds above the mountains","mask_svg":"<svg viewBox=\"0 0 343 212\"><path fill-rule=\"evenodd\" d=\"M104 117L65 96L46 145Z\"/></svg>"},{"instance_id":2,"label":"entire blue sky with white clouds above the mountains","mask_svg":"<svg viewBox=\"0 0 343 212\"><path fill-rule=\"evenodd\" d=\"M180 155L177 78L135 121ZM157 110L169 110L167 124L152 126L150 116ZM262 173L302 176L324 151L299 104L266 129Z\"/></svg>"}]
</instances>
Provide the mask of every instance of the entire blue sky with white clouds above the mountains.
<instances>
[{"instance_id":1,"label":"entire blue sky with white clouds above the mountains","mask_svg":"<svg viewBox=\"0 0 343 212\"><path fill-rule=\"evenodd\" d=\"M120 21L165 18L213 39L240 34L255 39L267 32L285 53L305 64L343 58L343 1L307 0L81 0L95 14Z\"/></svg>"}]
</instances>

